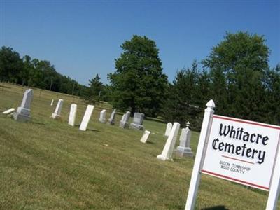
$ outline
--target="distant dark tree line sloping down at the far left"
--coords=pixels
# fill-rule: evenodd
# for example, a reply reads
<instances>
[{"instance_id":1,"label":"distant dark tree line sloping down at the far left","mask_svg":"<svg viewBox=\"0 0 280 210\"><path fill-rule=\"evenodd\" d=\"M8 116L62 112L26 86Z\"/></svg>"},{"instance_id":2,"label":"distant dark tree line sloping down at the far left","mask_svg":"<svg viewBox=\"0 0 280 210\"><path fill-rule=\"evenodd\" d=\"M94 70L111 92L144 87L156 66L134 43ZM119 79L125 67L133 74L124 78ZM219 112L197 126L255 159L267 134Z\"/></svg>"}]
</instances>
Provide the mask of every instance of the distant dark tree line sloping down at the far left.
<instances>
[{"instance_id":1,"label":"distant dark tree line sloping down at the far left","mask_svg":"<svg viewBox=\"0 0 280 210\"><path fill-rule=\"evenodd\" d=\"M0 49L0 80L66 94L81 95L87 87L58 73L49 61L32 59L3 46Z\"/></svg>"}]
</instances>

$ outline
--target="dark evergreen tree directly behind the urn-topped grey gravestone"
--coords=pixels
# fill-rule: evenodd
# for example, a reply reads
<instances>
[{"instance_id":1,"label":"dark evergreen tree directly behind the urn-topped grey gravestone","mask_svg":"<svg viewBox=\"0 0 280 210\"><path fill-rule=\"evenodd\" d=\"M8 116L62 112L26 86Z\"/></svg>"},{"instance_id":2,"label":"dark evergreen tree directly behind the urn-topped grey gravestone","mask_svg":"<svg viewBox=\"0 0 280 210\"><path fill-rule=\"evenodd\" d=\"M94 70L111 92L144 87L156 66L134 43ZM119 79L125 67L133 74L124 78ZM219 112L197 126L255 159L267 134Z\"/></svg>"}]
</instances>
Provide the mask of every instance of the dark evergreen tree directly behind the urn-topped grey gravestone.
<instances>
[{"instance_id":1,"label":"dark evergreen tree directly behind the urn-topped grey gravestone","mask_svg":"<svg viewBox=\"0 0 280 210\"><path fill-rule=\"evenodd\" d=\"M165 121L179 122L182 126L190 121L192 129L199 130L204 104L209 99L209 85L207 72L200 71L196 61L191 69L178 71L162 108Z\"/></svg>"}]
</instances>

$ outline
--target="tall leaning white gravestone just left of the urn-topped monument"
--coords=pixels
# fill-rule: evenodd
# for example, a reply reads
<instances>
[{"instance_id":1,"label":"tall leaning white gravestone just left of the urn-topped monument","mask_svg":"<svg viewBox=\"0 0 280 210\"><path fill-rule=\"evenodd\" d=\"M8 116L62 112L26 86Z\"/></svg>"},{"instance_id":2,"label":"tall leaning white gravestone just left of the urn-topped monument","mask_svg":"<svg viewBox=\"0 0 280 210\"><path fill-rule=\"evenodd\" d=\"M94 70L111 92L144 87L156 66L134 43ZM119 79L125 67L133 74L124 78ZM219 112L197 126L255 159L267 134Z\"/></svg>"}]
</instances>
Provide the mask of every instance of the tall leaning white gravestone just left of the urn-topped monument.
<instances>
[{"instance_id":1,"label":"tall leaning white gravestone just left of the urn-topped monument","mask_svg":"<svg viewBox=\"0 0 280 210\"><path fill-rule=\"evenodd\" d=\"M157 156L160 160L172 160L172 153L174 150L174 146L176 143L176 139L178 136L178 132L180 129L180 123L174 123L172 126L172 130L169 134L169 137L167 139L167 142L165 144L165 148L163 148L163 151L160 155Z\"/></svg>"}]
</instances>

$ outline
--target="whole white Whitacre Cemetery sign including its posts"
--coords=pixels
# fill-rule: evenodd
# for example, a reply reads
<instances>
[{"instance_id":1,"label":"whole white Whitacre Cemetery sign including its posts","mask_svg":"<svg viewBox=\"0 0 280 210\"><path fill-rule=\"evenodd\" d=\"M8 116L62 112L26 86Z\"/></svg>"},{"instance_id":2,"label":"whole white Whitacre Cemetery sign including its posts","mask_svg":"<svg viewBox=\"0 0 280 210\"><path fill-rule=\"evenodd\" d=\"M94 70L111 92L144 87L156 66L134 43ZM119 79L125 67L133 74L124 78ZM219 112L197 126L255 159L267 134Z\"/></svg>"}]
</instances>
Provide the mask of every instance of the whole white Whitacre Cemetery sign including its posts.
<instances>
[{"instance_id":1,"label":"whole white Whitacre Cemetery sign including its posts","mask_svg":"<svg viewBox=\"0 0 280 210\"><path fill-rule=\"evenodd\" d=\"M200 172L269 190L267 210L276 209L280 180L280 126L214 115L205 109L186 209L194 209Z\"/></svg>"}]
</instances>

